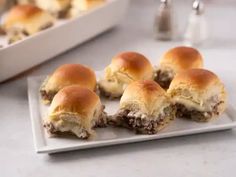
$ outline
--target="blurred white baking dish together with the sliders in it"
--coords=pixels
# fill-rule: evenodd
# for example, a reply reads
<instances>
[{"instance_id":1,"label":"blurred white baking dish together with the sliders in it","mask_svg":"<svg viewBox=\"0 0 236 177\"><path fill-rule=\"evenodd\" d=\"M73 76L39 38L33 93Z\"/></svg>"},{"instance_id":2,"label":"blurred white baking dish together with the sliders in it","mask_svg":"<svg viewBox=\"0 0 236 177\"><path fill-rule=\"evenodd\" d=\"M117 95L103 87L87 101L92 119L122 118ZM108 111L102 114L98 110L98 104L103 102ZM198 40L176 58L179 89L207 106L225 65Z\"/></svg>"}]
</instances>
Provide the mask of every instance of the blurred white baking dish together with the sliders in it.
<instances>
[{"instance_id":1,"label":"blurred white baking dish together with the sliders in it","mask_svg":"<svg viewBox=\"0 0 236 177\"><path fill-rule=\"evenodd\" d=\"M5 8L0 7L0 82L116 26L124 17L129 0L2 2ZM21 62L12 65L16 61Z\"/></svg>"}]
</instances>

